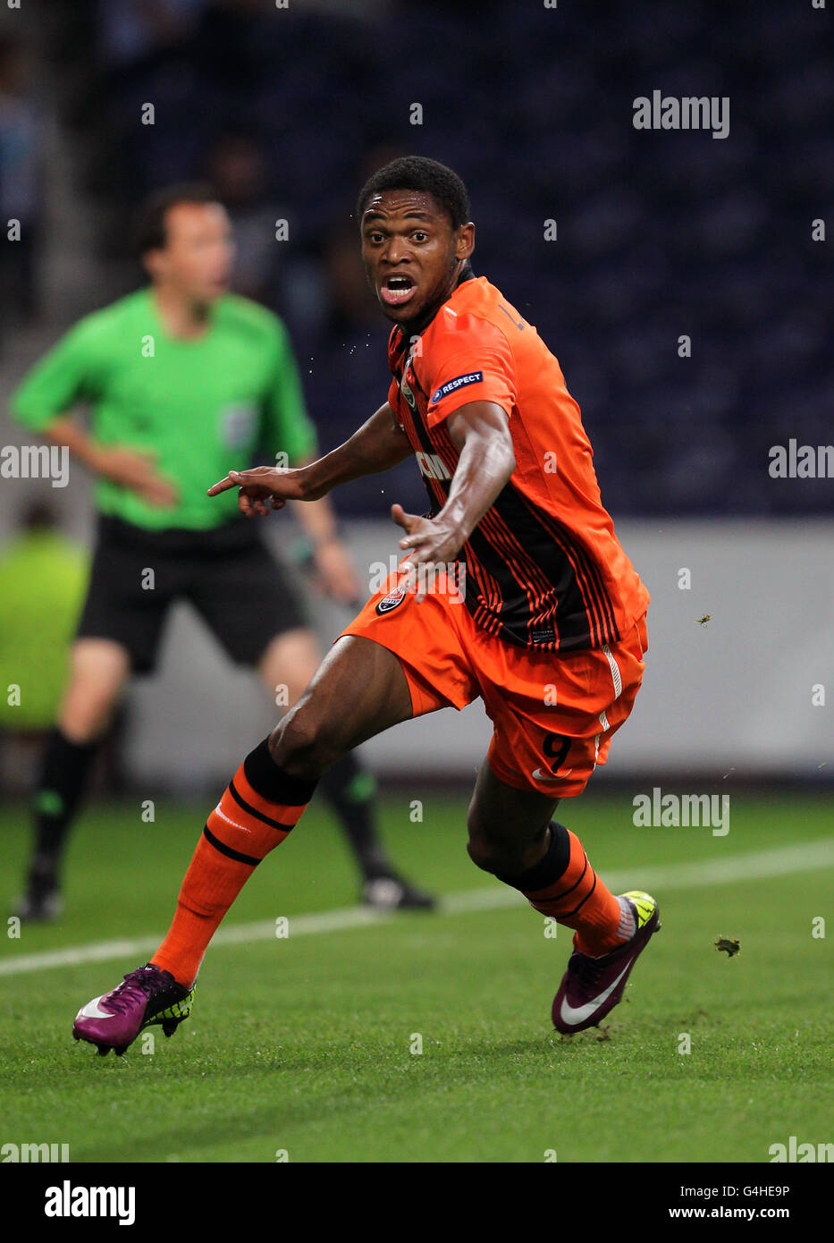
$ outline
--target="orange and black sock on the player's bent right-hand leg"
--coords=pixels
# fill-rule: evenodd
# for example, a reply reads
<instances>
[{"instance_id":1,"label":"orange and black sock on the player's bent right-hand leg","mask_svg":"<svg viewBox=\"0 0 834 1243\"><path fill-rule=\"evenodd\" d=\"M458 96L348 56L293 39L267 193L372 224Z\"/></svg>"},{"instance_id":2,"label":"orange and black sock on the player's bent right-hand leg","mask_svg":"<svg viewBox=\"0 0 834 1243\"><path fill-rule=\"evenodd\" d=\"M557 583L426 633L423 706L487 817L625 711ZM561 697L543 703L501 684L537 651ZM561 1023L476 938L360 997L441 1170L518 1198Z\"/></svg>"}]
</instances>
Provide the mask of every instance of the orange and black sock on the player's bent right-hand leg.
<instances>
[{"instance_id":1,"label":"orange and black sock on the player's bent right-hand leg","mask_svg":"<svg viewBox=\"0 0 834 1243\"><path fill-rule=\"evenodd\" d=\"M515 880L500 879L520 889L533 910L575 929L573 943L580 953L608 953L631 936L631 912L624 912L602 883L571 829L552 820L549 833L539 863Z\"/></svg>"}]
</instances>

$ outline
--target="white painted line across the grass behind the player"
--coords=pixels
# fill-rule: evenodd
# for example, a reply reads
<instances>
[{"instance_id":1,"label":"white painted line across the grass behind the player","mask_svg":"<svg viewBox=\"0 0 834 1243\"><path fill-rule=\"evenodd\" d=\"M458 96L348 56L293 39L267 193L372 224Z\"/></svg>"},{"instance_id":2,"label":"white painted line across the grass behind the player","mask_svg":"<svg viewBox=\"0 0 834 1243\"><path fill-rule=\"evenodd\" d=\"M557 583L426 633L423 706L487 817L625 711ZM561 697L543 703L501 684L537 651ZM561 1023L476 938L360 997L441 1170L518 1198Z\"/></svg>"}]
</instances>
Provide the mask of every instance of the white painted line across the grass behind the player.
<instances>
[{"instance_id":1,"label":"white painted line across the grass behind the player","mask_svg":"<svg viewBox=\"0 0 834 1243\"><path fill-rule=\"evenodd\" d=\"M777 850L759 850L754 854L731 855L728 859L711 859L705 863L662 864L633 870L607 871L605 884L614 892L630 888L656 889L660 897L669 889L701 889L705 885L732 885L742 880L759 880L784 876L794 871L813 871L834 866L834 838L810 842ZM441 915L466 915L469 911L493 911L502 906L517 906L525 899L515 889L470 889L449 894L441 900ZM308 915L291 915L291 936L313 936L319 932L343 932L347 929L388 924L396 914L372 911L367 906L346 906L336 911L318 911ZM430 915L425 916L430 919ZM224 945L244 945L250 941L275 938L275 924L260 920L256 924L239 924L218 929L211 938L211 948ZM19 976L30 971L48 971L53 967L75 967L82 962L107 962L111 958L135 958L152 953L162 936L144 936L124 941L98 941L68 950L48 950L42 953L24 953L0 962L0 976Z\"/></svg>"}]
</instances>

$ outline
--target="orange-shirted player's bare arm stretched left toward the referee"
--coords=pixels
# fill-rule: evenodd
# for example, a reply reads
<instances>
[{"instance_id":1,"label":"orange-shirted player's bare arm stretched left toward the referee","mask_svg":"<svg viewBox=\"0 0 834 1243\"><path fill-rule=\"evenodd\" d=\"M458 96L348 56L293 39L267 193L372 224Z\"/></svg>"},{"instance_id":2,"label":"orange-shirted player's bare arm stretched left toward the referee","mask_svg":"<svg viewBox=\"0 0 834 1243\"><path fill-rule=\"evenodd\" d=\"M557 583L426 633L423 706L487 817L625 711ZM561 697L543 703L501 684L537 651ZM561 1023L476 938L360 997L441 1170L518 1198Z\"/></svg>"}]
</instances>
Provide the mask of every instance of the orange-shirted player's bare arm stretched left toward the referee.
<instances>
[{"instance_id":1,"label":"orange-shirted player's bare arm stretched left toward the referee","mask_svg":"<svg viewBox=\"0 0 834 1243\"><path fill-rule=\"evenodd\" d=\"M339 484L390 470L411 452L405 433L385 401L349 440L317 461L297 467L255 466L230 471L209 488L209 496L239 487L237 507L242 513L268 513L270 507L281 510L287 501L318 501Z\"/></svg>"}]
</instances>

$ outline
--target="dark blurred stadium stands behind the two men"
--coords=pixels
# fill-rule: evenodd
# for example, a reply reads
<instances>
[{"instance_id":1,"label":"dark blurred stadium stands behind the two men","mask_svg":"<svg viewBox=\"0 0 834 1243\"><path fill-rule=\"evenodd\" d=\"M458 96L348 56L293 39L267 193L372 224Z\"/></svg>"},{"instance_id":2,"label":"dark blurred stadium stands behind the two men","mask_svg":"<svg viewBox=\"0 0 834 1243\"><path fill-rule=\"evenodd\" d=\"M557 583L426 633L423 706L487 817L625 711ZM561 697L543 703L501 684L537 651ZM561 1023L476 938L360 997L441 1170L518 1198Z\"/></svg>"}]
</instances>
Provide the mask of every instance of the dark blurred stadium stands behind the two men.
<instances>
[{"instance_id":1,"label":"dark blurred stadium stands behind the two men","mask_svg":"<svg viewBox=\"0 0 834 1243\"><path fill-rule=\"evenodd\" d=\"M385 384L385 329L355 260L355 190L392 153L430 154L469 184L476 271L559 357L609 508L829 511L830 485L773 488L758 469L786 409L799 441L830 433L832 246L810 240L812 219L830 225L834 205L820 20L810 2L748 0L562 0L547 11L127 0L46 5L37 21L7 14L4 91L10 61L25 58L15 97L60 129L61 167L41 167L26 204L39 226L35 322L65 311L46 234L71 227L68 213L88 222L73 310L92 308L131 285L137 196L214 177L239 225L240 283L286 317L322 440L336 444ZM731 138L635 131L631 101L655 87L728 96ZM144 101L153 127L137 123ZM415 101L421 126L409 124ZM32 135L26 167L47 148ZM273 240L277 216L290 244ZM556 242L543 240L546 219ZM672 332L691 336L691 360L666 348ZM416 503L414 472L401 474ZM377 495L359 482L339 506L373 513Z\"/></svg>"}]
</instances>

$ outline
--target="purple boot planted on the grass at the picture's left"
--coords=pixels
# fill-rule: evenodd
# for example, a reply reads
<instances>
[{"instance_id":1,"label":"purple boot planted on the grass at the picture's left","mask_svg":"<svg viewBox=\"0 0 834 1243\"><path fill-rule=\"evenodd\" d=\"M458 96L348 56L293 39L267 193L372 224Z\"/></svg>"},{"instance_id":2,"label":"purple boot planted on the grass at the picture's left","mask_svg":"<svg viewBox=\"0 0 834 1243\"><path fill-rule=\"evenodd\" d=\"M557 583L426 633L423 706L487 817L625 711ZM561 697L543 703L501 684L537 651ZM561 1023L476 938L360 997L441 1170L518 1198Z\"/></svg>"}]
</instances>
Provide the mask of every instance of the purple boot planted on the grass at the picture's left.
<instances>
[{"instance_id":1,"label":"purple boot planted on the grass at the picture's left","mask_svg":"<svg viewBox=\"0 0 834 1243\"><path fill-rule=\"evenodd\" d=\"M72 1034L88 1040L104 1057L111 1049L121 1057L139 1032L154 1023L173 1035L191 1013L194 988L178 984L169 971L153 963L131 971L121 984L91 1002L76 1014Z\"/></svg>"}]
</instances>

